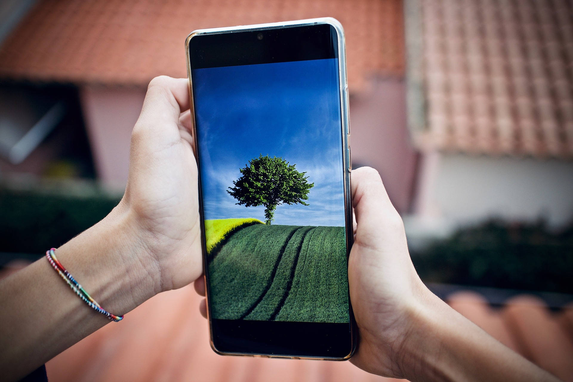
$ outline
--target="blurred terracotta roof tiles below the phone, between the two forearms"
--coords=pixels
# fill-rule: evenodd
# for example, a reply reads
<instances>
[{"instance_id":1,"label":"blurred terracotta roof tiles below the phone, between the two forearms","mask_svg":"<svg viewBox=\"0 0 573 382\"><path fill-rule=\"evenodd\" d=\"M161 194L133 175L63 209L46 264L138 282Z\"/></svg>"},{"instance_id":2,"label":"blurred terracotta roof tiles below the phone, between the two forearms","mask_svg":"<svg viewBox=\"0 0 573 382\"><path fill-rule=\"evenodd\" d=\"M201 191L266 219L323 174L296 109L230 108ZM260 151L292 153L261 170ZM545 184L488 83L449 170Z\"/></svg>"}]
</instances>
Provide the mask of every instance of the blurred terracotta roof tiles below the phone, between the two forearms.
<instances>
[{"instance_id":1,"label":"blurred terracotta roof tiles below the phone, between the two forearms","mask_svg":"<svg viewBox=\"0 0 573 382\"><path fill-rule=\"evenodd\" d=\"M198 311L200 300L191 285L151 298L125 316L121 325L106 325L49 361L50 381L393 380L349 362L219 356L209 346L207 321ZM151 318L158 312L161 320Z\"/></svg>"}]
</instances>

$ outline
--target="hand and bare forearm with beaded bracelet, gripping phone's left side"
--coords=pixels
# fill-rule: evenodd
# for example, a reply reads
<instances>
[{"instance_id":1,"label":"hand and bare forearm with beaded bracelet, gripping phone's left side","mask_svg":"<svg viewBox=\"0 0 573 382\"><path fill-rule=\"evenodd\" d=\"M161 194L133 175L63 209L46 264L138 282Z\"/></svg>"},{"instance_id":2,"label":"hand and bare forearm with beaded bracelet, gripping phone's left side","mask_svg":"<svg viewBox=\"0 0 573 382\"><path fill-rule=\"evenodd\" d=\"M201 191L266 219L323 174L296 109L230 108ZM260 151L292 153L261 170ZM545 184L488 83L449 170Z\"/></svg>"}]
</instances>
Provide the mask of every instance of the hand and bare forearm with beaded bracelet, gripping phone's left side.
<instances>
[{"instance_id":1,"label":"hand and bare forearm with beaded bracelet, gripping phone's left side","mask_svg":"<svg viewBox=\"0 0 573 382\"><path fill-rule=\"evenodd\" d=\"M117 316L202 273L187 84L170 77L151 81L132 132L121 202L56 250L83 288ZM74 296L46 259L2 279L0 306L6 380L22 378L110 322Z\"/></svg>"}]
</instances>

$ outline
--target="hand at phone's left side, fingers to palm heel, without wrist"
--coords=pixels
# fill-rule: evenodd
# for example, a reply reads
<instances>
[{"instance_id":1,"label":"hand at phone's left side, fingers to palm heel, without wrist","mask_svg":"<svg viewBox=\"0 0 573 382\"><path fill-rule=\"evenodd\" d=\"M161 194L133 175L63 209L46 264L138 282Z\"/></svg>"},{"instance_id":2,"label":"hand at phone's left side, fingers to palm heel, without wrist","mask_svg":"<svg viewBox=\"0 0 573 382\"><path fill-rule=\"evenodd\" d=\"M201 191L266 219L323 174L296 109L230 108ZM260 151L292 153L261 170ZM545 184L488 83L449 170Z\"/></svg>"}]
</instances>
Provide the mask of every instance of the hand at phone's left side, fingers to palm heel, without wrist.
<instances>
[{"instance_id":1,"label":"hand at phone's left side, fingers to palm heel, without wrist","mask_svg":"<svg viewBox=\"0 0 573 382\"><path fill-rule=\"evenodd\" d=\"M167 76L150 82L131 135L127 187L116 207L134 227L142 246L139 265L155 293L185 286L203 271L188 84Z\"/></svg>"}]
</instances>

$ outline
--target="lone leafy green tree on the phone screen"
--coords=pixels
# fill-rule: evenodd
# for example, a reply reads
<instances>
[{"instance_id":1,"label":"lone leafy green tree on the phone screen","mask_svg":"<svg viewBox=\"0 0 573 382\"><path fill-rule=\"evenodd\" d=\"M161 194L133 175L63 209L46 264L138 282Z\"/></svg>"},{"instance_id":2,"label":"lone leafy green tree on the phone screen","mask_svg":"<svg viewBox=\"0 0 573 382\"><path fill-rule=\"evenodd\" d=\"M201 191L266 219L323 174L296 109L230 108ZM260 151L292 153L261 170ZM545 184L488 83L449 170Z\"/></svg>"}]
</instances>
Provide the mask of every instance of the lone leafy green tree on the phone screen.
<instances>
[{"instance_id":1,"label":"lone leafy green tree on the phone screen","mask_svg":"<svg viewBox=\"0 0 573 382\"><path fill-rule=\"evenodd\" d=\"M274 210L279 204L303 204L308 200L308 191L314 183L308 183L306 172L296 171L294 164L289 164L281 157L259 155L249 160L241 168L241 178L229 187L229 194L239 202L250 206L265 206L266 224L273 221Z\"/></svg>"}]
</instances>

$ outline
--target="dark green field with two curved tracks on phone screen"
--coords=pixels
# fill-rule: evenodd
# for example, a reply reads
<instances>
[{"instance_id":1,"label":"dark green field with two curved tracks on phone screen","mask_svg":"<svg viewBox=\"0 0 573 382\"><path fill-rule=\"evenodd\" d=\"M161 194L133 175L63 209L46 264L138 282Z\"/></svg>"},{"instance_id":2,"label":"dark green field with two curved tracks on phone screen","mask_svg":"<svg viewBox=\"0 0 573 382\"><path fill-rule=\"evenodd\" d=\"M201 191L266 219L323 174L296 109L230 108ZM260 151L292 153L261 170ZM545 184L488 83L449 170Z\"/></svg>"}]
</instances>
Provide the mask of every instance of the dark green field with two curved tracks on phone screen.
<instances>
[{"instance_id":1,"label":"dark green field with two curved tracks on phone screen","mask_svg":"<svg viewBox=\"0 0 573 382\"><path fill-rule=\"evenodd\" d=\"M209 239L214 318L348 322L344 227L251 222Z\"/></svg>"}]
</instances>

